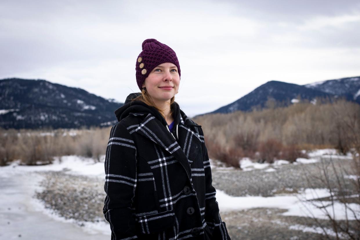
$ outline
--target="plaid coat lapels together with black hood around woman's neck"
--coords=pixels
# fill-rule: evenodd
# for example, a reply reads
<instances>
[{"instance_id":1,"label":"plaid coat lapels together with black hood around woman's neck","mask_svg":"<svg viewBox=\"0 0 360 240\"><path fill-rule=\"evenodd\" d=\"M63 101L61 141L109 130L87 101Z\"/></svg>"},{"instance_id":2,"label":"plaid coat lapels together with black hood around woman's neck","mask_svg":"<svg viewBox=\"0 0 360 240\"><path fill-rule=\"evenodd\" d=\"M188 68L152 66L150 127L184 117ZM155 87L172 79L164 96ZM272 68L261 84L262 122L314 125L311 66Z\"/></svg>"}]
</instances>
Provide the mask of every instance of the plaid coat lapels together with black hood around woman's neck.
<instances>
[{"instance_id":1,"label":"plaid coat lapels together with black hood around woman's neck","mask_svg":"<svg viewBox=\"0 0 360 240\"><path fill-rule=\"evenodd\" d=\"M172 110L179 137L179 140L176 141L167 130L165 118L156 108L150 107L142 101L132 100L136 98L136 96L139 96L139 94L140 93L129 94L125 100L125 104L115 111L118 121L121 121L121 119L129 115L140 116L141 119L143 119L142 122L131 132L136 131L147 137L173 155L184 167L191 181L190 163L199 152L199 142L204 142L203 136L199 135L197 129L197 127L201 126L188 118L180 109L179 104L174 102L174 104L172 104ZM195 141L199 142L196 143Z\"/></svg>"}]
</instances>

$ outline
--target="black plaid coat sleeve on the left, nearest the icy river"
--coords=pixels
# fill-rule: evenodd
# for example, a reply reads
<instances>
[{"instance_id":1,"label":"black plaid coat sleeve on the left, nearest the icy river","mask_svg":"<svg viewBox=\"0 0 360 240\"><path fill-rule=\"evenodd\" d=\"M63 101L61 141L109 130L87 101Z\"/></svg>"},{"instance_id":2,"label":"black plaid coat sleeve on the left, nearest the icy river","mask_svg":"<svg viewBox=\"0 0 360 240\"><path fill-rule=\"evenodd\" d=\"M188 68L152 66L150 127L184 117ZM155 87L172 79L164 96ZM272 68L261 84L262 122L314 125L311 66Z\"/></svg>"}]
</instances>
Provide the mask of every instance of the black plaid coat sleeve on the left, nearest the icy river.
<instances>
[{"instance_id":1,"label":"black plaid coat sleeve on the left, nearest the icy river","mask_svg":"<svg viewBox=\"0 0 360 240\"><path fill-rule=\"evenodd\" d=\"M103 213L111 239L136 239L131 205L136 188L136 146L121 122L111 128L105 155L106 193Z\"/></svg>"}]
</instances>

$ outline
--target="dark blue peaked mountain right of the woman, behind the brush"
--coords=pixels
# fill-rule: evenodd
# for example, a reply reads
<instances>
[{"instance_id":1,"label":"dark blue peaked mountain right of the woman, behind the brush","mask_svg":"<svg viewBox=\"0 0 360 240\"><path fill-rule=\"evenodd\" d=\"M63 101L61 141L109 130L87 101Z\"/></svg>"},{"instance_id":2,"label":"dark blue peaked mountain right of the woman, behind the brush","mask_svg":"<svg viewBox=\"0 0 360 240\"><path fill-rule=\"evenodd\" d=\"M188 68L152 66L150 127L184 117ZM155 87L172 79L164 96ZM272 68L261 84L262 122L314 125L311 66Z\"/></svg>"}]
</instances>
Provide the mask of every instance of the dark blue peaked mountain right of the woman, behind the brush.
<instances>
[{"instance_id":1,"label":"dark blue peaked mountain right of the woman, behind the brush","mask_svg":"<svg viewBox=\"0 0 360 240\"><path fill-rule=\"evenodd\" d=\"M355 101L360 104L360 77L349 77L335 80L297 85L280 81L269 81L257 87L249 94L216 109L211 113L231 113L235 111L251 111L254 108L266 107L269 99L289 105L300 99L314 101L316 98L339 98Z\"/></svg>"}]
</instances>

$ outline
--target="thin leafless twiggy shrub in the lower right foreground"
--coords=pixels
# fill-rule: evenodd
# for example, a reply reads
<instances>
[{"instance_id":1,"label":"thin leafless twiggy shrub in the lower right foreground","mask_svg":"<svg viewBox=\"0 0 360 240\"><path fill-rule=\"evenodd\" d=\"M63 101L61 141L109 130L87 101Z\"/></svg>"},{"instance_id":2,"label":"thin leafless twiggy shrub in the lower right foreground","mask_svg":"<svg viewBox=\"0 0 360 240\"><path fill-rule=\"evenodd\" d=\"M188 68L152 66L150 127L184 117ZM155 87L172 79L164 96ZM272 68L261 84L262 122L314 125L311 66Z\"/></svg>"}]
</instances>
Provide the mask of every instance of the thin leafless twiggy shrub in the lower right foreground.
<instances>
[{"instance_id":1,"label":"thin leafless twiggy shrub in the lower right foreground","mask_svg":"<svg viewBox=\"0 0 360 240\"><path fill-rule=\"evenodd\" d=\"M328 235L327 227L332 228L336 239L360 239L360 182L359 175L353 175L352 163L359 162L358 158L353 159L350 165L342 159L321 159L316 176L310 172L304 172L307 183L311 189L314 199L302 200L303 204L310 203L322 212L328 221L328 226L319 221L314 212L307 208L310 216L318 227L324 231L327 239L333 239ZM350 167L346 167L349 165ZM345 166L345 167L344 167ZM348 176L357 176L351 179ZM320 181L329 192L329 196L319 198L316 195L316 187L312 182ZM339 208L339 205L341 208ZM339 219L334 209L344 209L341 214L345 219Z\"/></svg>"}]
</instances>

